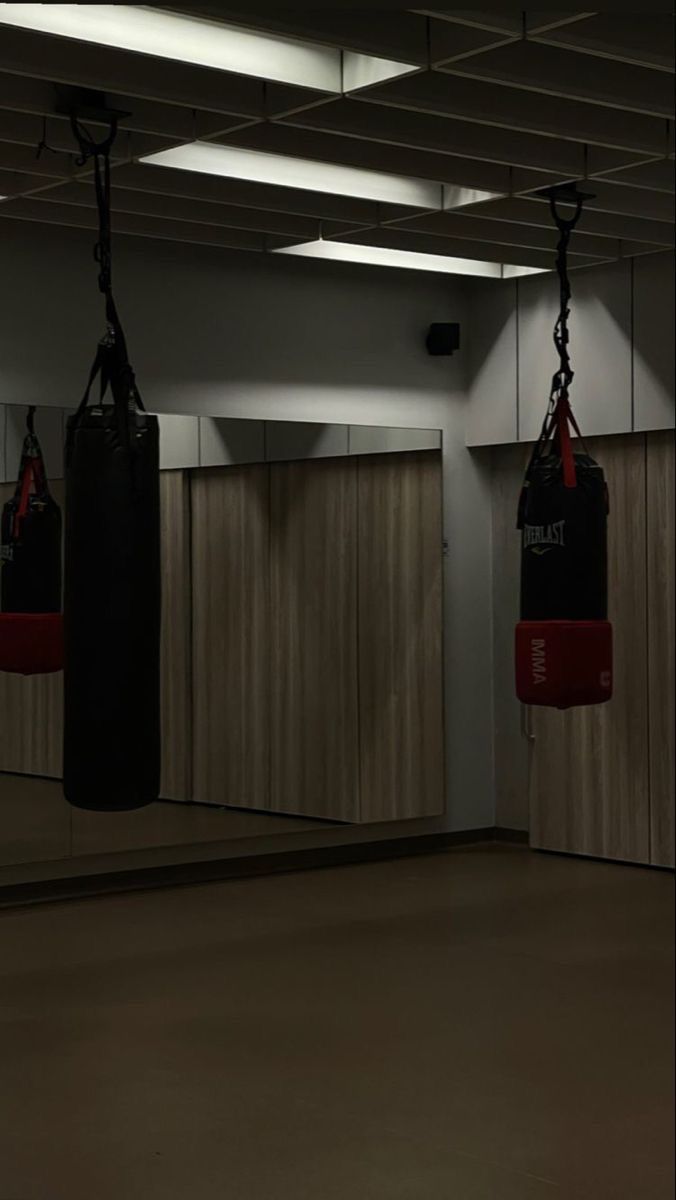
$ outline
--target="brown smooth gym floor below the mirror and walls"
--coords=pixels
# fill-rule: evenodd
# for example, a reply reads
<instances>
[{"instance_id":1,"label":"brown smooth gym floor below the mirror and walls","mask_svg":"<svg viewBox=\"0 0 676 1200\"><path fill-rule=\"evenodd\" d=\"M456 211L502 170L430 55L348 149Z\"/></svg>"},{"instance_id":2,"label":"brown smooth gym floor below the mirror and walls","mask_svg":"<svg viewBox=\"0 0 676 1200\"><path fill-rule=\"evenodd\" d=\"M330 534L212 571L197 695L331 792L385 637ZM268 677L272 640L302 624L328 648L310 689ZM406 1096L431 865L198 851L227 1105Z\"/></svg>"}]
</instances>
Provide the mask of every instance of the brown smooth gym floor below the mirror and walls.
<instances>
[{"instance_id":1,"label":"brown smooth gym floor below the mirror and walls","mask_svg":"<svg viewBox=\"0 0 676 1200\"><path fill-rule=\"evenodd\" d=\"M454 851L0 913L2 1200L671 1200L665 872Z\"/></svg>"}]
</instances>

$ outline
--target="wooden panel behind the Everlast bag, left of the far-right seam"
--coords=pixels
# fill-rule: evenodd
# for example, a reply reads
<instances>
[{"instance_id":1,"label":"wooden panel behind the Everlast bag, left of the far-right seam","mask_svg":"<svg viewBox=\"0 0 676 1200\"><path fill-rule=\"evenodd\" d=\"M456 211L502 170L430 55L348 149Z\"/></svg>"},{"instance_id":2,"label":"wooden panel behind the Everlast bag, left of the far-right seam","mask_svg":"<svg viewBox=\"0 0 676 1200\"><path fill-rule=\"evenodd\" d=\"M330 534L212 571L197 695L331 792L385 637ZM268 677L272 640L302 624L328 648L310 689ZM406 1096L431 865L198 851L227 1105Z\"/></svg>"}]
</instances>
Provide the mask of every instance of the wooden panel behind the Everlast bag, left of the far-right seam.
<instances>
[{"instance_id":1,"label":"wooden panel behind the Everlast bag, left of the far-right seam","mask_svg":"<svg viewBox=\"0 0 676 1200\"><path fill-rule=\"evenodd\" d=\"M590 443L610 490L609 616L614 698L532 709L531 845L647 863L645 439Z\"/></svg>"}]
</instances>

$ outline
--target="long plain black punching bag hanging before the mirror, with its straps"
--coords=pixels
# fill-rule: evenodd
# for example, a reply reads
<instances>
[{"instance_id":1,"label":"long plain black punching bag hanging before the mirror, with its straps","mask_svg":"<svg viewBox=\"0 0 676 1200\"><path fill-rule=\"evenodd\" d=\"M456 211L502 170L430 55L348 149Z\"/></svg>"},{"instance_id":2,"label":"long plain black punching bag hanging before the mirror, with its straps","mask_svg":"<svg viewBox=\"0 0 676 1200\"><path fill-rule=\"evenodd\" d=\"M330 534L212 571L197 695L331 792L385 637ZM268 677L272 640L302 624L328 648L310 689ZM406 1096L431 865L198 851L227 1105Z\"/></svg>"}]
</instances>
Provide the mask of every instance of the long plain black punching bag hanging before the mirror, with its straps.
<instances>
[{"instance_id":1,"label":"long plain black punching bag hanging before the mirror, with its straps","mask_svg":"<svg viewBox=\"0 0 676 1200\"><path fill-rule=\"evenodd\" d=\"M107 154L103 172L100 148L90 154L109 329L67 422L64 791L77 808L113 811L160 791L158 427L143 410L110 292Z\"/></svg>"}]
</instances>

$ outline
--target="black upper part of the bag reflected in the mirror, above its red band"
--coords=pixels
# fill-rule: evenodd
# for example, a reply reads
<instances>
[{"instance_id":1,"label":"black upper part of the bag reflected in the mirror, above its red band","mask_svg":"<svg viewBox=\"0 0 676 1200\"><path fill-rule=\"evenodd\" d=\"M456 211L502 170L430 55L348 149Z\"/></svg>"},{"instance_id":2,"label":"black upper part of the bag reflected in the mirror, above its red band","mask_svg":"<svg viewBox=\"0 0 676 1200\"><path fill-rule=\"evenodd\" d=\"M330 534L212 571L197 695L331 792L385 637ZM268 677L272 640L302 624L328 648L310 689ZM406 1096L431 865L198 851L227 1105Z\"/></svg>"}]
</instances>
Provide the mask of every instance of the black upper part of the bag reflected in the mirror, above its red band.
<instances>
[{"instance_id":1,"label":"black upper part of the bag reflected in the mirror, above its red band","mask_svg":"<svg viewBox=\"0 0 676 1200\"><path fill-rule=\"evenodd\" d=\"M0 608L61 611L61 510L53 499L40 442L24 439L14 494L1 517Z\"/></svg>"}]
</instances>

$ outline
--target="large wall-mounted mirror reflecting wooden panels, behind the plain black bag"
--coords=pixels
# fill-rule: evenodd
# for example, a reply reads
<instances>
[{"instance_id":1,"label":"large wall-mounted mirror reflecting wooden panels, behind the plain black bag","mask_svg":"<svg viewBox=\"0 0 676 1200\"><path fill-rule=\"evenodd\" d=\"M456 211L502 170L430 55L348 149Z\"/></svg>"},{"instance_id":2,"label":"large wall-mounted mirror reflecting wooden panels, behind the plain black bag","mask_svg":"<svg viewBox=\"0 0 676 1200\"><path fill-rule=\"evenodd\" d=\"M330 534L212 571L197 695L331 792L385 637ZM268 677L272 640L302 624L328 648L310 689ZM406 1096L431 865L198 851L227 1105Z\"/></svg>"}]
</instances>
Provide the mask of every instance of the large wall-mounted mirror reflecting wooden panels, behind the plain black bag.
<instances>
[{"instance_id":1,"label":"large wall-mounted mirror reflecting wooden panels, behind the plain black bag","mask_svg":"<svg viewBox=\"0 0 676 1200\"><path fill-rule=\"evenodd\" d=\"M59 503L66 416L35 418ZM24 424L0 407L2 504ZM162 798L71 809L61 676L0 673L0 884L443 811L439 431L160 424Z\"/></svg>"}]
</instances>

